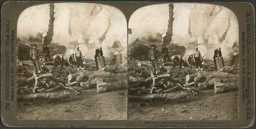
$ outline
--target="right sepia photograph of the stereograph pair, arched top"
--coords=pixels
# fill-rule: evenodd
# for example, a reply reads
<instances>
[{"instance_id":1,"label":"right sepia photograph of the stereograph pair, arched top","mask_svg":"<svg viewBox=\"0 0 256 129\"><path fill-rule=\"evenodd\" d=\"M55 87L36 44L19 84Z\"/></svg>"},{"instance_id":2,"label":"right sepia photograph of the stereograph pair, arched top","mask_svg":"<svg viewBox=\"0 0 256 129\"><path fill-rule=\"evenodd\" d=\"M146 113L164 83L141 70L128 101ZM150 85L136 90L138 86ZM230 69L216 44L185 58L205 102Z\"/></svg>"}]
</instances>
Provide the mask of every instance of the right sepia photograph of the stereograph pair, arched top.
<instances>
[{"instance_id":1,"label":"right sepia photograph of the stereograph pair, arched top","mask_svg":"<svg viewBox=\"0 0 256 129\"><path fill-rule=\"evenodd\" d=\"M239 25L229 8L166 3L128 22L129 120L239 117Z\"/></svg>"}]
</instances>

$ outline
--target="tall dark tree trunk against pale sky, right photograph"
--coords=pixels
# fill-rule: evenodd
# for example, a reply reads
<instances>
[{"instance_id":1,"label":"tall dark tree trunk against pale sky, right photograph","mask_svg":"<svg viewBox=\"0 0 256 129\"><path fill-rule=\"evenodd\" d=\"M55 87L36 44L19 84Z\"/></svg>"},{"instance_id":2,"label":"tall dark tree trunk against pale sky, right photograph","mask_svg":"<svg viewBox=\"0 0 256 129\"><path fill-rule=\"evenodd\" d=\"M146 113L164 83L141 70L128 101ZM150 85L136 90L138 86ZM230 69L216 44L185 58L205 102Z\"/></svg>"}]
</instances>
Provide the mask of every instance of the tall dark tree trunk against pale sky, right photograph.
<instances>
[{"instance_id":1,"label":"tall dark tree trunk against pale sky, right photograph","mask_svg":"<svg viewBox=\"0 0 256 129\"><path fill-rule=\"evenodd\" d=\"M163 44L169 45L170 42L172 41L172 27L173 27L173 21L174 21L174 17L173 17L173 3L169 4L169 20L168 20L168 28L167 28L167 32L166 32L166 36L163 37Z\"/></svg>"}]
</instances>

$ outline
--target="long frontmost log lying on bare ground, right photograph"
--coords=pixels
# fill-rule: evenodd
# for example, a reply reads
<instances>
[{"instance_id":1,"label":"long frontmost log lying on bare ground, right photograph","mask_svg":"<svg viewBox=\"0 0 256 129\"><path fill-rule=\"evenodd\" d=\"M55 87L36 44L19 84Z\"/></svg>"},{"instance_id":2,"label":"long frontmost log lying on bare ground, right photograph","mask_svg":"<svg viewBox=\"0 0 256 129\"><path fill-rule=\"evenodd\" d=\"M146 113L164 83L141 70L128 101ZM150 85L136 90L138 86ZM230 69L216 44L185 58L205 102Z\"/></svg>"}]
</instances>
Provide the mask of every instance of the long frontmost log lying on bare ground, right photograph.
<instances>
[{"instance_id":1,"label":"long frontmost log lying on bare ground, right photograph","mask_svg":"<svg viewBox=\"0 0 256 129\"><path fill-rule=\"evenodd\" d=\"M172 94L172 93L166 93L166 94L149 94L149 95L128 95L129 99L137 99L141 101L151 100L151 99L164 99L166 101L179 101L182 100L189 95L192 95L192 93L178 93L178 94Z\"/></svg>"}]
</instances>

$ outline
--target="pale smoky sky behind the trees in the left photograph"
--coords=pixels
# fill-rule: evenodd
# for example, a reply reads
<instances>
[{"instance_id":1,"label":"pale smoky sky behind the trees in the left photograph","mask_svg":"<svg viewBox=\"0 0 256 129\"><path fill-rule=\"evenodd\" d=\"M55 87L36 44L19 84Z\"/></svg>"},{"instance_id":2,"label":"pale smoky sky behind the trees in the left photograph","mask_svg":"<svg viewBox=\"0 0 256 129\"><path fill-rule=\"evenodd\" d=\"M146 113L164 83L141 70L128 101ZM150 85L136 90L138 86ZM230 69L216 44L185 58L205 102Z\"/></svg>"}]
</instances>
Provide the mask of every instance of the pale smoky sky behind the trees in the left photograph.
<instances>
[{"instance_id":1,"label":"pale smoky sky behind the trees in the left photograph","mask_svg":"<svg viewBox=\"0 0 256 129\"><path fill-rule=\"evenodd\" d=\"M102 9L98 15L89 16L91 9ZM72 33L68 34L70 11L72 13ZM127 22L125 16L117 8L92 3L55 3L53 42L67 45L78 40L82 42L82 34L89 39L89 43L98 42L98 35L102 35L108 26L108 19L112 15L111 28L102 45L109 45L119 40L123 46L127 45ZM26 8L17 22L17 37L36 36L37 32L46 35L49 24L49 4Z\"/></svg>"}]
</instances>

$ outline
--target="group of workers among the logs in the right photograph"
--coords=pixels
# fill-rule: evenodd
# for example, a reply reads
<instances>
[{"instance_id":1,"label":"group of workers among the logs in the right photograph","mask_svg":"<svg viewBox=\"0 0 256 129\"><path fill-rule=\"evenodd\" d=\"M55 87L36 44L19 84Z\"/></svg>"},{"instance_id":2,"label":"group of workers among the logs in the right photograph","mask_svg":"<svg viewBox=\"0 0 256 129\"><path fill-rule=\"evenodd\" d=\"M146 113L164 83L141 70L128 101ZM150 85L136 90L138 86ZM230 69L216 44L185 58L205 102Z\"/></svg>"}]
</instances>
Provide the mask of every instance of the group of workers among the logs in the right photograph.
<instances>
[{"instance_id":1,"label":"group of workers among the logs in the right photograph","mask_svg":"<svg viewBox=\"0 0 256 129\"><path fill-rule=\"evenodd\" d=\"M158 51L155 49L155 45L151 46L151 50L149 51L148 57L151 61L151 64L153 66L153 71L154 72L160 72L157 62L158 59L157 57L159 55L162 55L162 58L164 59L164 62L166 62L166 58L168 59L168 62L173 62L173 68L175 68L176 66L179 66L179 68L181 67L188 67L191 66L191 59L194 60L195 62L195 69L198 71L198 67L200 67L200 70L203 70L203 66L202 66L202 61L203 61L203 56L201 55L201 52L198 50L198 47L195 47L195 51L193 52L193 54L190 55L173 55L171 56L171 58L169 57L169 50L168 48L166 48L166 45L163 45L162 51L160 53L158 53ZM217 70L217 63L216 63L216 57L221 57L221 48L218 47L215 51L214 51L214 56L213 56L213 61L214 61L214 65L215 65L215 70ZM161 58L161 59L162 59Z\"/></svg>"}]
</instances>

